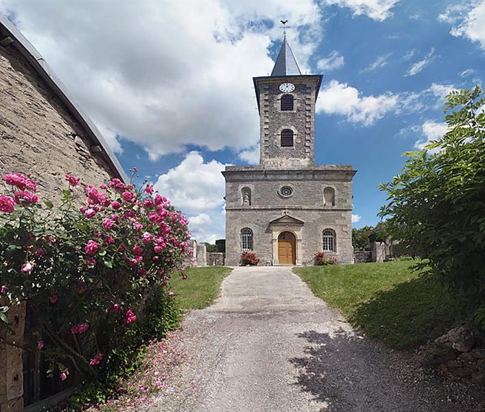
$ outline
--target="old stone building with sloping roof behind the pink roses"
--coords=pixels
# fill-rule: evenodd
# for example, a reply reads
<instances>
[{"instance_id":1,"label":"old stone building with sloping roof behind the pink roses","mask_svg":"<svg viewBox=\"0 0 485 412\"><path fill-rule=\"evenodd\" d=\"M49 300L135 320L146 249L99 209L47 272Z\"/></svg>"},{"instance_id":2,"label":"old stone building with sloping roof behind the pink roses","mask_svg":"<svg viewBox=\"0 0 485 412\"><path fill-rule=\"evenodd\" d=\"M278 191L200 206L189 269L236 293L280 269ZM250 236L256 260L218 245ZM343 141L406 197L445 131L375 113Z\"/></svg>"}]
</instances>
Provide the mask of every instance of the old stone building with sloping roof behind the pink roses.
<instances>
[{"instance_id":1,"label":"old stone building with sloping roof behind the pink roses","mask_svg":"<svg viewBox=\"0 0 485 412\"><path fill-rule=\"evenodd\" d=\"M40 196L53 200L66 187L66 172L93 185L113 177L127 180L91 119L1 14L0 142L0 174L30 172L39 183ZM40 352L21 349L24 338L32 338L34 332L27 316L24 334L25 305L8 314L14 334L0 330L0 411L23 411L24 398L31 404L62 391L66 384L46 382Z\"/></svg>"}]
</instances>

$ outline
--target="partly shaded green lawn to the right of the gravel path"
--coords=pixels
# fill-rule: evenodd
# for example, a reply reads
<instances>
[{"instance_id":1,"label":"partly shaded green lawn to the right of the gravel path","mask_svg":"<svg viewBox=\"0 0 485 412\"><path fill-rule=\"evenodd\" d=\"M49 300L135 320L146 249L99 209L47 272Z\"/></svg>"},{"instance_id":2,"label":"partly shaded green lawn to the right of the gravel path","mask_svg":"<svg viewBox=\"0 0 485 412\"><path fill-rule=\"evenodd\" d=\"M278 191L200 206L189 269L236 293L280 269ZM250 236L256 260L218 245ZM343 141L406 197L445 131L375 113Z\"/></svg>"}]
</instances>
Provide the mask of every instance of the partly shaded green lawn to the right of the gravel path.
<instances>
[{"instance_id":1,"label":"partly shaded green lawn to the right of the gravel path","mask_svg":"<svg viewBox=\"0 0 485 412\"><path fill-rule=\"evenodd\" d=\"M413 264L307 266L294 272L354 327L390 347L412 350L466 319L458 299L413 272Z\"/></svg>"}]
</instances>

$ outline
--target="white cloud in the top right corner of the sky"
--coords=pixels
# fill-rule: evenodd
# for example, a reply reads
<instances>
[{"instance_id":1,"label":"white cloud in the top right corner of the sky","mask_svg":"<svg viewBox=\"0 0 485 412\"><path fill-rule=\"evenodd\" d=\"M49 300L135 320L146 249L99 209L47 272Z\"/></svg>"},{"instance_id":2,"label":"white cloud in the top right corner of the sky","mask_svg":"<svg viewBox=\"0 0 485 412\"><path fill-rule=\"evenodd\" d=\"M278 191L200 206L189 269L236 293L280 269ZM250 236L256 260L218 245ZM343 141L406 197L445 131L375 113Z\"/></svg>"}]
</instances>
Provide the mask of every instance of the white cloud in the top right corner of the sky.
<instances>
[{"instance_id":1,"label":"white cloud in the top right corner of the sky","mask_svg":"<svg viewBox=\"0 0 485 412\"><path fill-rule=\"evenodd\" d=\"M485 49L485 0L450 5L438 19L453 24L452 36L469 38Z\"/></svg>"}]
</instances>

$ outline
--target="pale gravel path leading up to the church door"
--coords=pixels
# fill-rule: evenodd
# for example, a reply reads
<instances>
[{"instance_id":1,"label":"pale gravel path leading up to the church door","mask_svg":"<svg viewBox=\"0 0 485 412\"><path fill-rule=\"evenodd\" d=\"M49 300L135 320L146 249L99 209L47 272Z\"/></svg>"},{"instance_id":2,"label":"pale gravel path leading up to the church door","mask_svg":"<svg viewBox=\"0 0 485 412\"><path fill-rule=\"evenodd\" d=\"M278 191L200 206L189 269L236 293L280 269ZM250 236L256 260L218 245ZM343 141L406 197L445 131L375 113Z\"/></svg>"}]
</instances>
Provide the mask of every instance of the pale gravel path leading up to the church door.
<instances>
[{"instance_id":1,"label":"pale gravel path leading up to the church door","mask_svg":"<svg viewBox=\"0 0 485 412\"><path fill-rule=\"evenodd\" d=\"M235 268L182 328L185 385L158 411L485 411L484 391L359 336L291 268Z\"/></svg>"}]
</instances>

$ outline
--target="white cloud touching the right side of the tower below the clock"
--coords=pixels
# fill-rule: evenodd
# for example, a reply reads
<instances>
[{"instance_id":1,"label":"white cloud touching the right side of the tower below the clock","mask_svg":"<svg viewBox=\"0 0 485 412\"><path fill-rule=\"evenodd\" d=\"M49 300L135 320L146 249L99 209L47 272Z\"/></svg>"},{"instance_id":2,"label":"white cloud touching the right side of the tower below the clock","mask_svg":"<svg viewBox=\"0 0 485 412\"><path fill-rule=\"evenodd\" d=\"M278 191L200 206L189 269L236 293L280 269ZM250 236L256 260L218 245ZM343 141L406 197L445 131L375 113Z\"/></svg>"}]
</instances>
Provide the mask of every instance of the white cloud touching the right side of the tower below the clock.
<instances>
[{"instance_id":1,"label":"white cloud touching the right side of the tower below the clock","mask_svg":"<svg viewBox=\"0 0 485 412\"><path fill-rule=\"evenodd\" d=\"M344 115L351 122L370 126L386 113L395 111L399 96L383 93L378 96L362 96L355 87L331 80L321 91L316 111Z\"/></svg>"}]
</instances>

